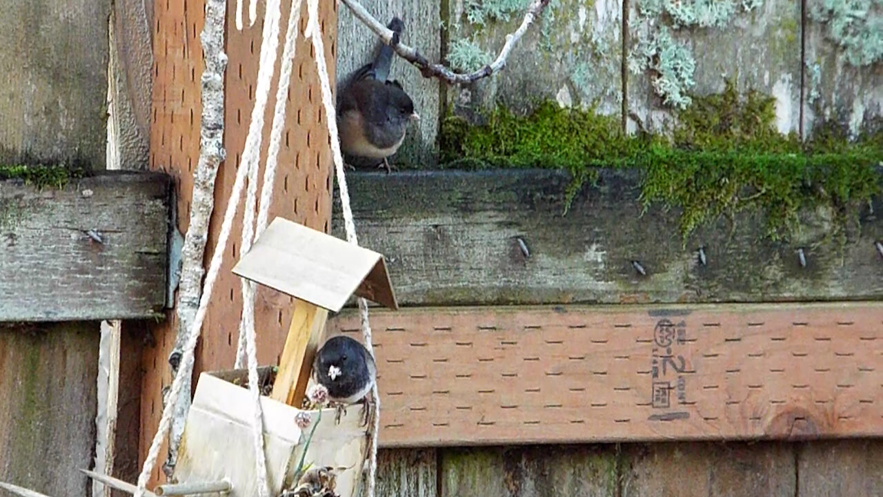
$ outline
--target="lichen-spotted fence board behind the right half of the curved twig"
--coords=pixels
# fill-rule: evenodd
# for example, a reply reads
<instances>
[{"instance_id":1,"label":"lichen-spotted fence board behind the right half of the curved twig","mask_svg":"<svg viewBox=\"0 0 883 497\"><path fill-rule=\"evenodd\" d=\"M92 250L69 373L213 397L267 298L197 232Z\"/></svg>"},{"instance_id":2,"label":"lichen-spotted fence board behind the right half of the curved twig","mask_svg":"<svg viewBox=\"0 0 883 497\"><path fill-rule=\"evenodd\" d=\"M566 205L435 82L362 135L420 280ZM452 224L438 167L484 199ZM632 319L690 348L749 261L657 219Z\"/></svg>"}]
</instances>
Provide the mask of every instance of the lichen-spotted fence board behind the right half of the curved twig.
<instances>
[{"instance_id":1,"label":"lichen-spotted fence board behind the right half of the curved twig","mask_svg":"<svg viewBox=\"0 0 883 497\"><path fill-rule=\"evenodd\" d=\"M496 57L506 36L524 19L519 6L506 15L508 20L488 15L484 25L470 23L471 11L491 9L477 2L448 4L447 53L458 43L470 41L487 50L489 57ZM540 100L584 109L596 104L601 114L620 115L622 27L623 0L555 2L512 50L502 73L469 86L449 88L447 104L457 114L478 121L481 112L490 111L497 103L525 113Z\"/></svg>"}]
</instances>

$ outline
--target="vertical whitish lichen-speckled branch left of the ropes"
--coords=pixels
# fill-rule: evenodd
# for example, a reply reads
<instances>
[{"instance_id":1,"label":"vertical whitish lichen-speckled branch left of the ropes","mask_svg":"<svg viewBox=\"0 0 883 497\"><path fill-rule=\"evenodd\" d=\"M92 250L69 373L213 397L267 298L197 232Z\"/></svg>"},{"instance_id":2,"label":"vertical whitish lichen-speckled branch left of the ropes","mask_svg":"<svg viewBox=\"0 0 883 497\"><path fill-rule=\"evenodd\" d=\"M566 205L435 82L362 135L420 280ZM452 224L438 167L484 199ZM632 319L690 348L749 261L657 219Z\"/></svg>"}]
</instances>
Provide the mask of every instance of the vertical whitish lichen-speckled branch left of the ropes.
<instances>
[{"instance_id":1,"label":"vertical whitish lichen-speckled branch left of the ropes","mask_svg":"<svg viewBox=\"0 0 883 497\"><path fill-rule=\"evenodd\" d=\"M202 84L202 114L200 117L200 160L193 178L190 224L181 251L181 279L177 292L177 337L169 356L172 378L181 362L184 344L191 331L196 311L200 307L202 277L205 269L202 261L208 241L208 223L215 209L215 177L218 165L226 158L223 148L223 74L227 67L224 46L224 19L227 16L226 0L208 0L206 22L200 34L205 53L205 70L200 77ZM192 366L191 366L192 367ZM185 371L192 373L192 371ZM185 377L185 378L189 378ZM177 398L169 435L169 458L162 469L170 477L177 463L177 449L184 432L187 411L190 409L190 381L185 382Z\"/></svg>"}]
</instances>

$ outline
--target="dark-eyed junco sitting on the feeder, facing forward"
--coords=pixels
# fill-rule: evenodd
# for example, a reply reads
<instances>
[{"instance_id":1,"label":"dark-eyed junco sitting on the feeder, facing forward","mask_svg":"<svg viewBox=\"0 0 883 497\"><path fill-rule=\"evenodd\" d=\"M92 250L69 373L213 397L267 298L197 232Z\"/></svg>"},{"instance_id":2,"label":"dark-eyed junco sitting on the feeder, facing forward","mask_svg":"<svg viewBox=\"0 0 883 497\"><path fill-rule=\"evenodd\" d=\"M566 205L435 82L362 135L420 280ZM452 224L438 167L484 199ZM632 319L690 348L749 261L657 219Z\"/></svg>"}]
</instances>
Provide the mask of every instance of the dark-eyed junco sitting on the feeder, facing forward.
<instances>
[{"instance_id":1,"label":"dark-eyed junco sitting on the feeder, facing forward","mask_svg":"<svg viewBox=\"0 0 883 497\"><path fill-rule=\"evenodd\" d=\"M328 389L328 400L347 405L365 398L377 378L374 357L361 343L337 335L313 359L313 381Z\"/></svg>"}]
</instances>

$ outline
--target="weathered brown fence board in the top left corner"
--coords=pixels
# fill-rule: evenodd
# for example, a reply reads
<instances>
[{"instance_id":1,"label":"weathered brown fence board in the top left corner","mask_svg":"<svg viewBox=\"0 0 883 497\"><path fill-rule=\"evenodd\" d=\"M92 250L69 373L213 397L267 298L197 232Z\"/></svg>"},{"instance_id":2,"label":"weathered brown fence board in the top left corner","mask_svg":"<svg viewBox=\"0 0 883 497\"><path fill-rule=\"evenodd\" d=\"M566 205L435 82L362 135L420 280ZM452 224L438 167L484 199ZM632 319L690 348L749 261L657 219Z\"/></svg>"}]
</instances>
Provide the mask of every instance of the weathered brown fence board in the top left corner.
<instances>
[{"instance_id":1,"label":"weathered brown fence board in the top left corner","mask_svg":"<svg viewBox=\"0 0 883 497\"><path fill-rule=\"evenodd\" d=\"M0 0L0 163L103 169L109 10L94 0Z\"/></svg>"}]
</instances>

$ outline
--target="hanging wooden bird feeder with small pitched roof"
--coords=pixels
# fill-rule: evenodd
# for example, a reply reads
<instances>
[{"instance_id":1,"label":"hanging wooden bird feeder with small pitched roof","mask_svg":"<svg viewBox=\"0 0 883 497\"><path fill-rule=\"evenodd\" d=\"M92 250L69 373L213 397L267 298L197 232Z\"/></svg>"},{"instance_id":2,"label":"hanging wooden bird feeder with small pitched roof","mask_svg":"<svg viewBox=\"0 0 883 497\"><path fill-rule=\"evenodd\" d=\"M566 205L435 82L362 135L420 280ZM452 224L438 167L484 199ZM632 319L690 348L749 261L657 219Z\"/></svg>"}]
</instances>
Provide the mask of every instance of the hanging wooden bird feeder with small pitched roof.
<instances>
[{"instance_id":1,"label":"hanging wooden bird feeder with small pitched roof","mask_svg":"<svg viewBox=\"0 0 883 497\"><path fill-rule=\"evenodd\" d=\"M309 411L313 424L306 430L295 424L328 311L339 311L352 294L394 310L398 305L381 254L283 218L274 219L233 272L295 298L272 394L260 397L269 490L279 495L296 483L306 435L320 416ZM271 372L260 369L261 383ZM253 401L241 386L246 378L243 370L200 374L175 467L178 485L226 482L225 495L257 494ZM358 485L367 444L363 418L361 409L349 409L336 424L335 410L324 409L306 449L307 464L346 468L336 478L343 497Z\"/></svg>"}]
</instances>

